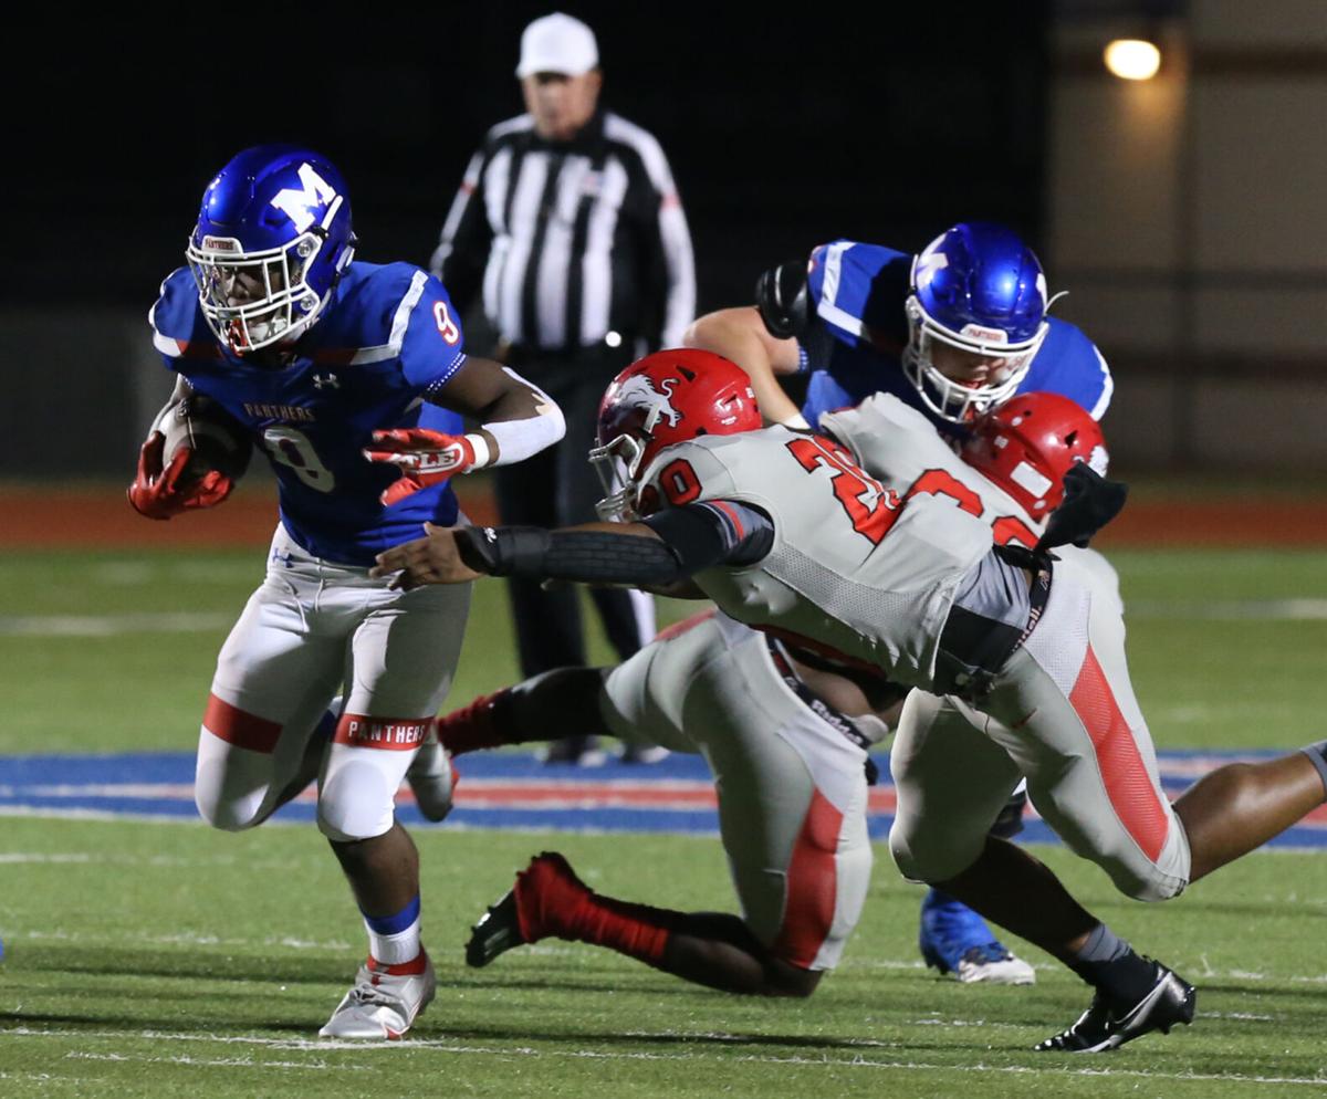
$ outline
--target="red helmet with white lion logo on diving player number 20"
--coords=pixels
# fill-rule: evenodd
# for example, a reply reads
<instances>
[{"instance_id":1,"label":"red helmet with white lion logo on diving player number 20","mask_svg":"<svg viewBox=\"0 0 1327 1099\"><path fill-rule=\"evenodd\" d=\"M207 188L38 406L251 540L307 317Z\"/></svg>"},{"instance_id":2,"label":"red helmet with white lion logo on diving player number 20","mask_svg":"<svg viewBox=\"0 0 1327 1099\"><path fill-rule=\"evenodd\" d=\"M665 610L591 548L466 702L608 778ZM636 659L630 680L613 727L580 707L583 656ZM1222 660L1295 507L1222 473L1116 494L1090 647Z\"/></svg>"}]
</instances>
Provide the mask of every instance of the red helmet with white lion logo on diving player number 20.
<instances>
[{"instance_id":1,"label":"red helmet with white lion logo on diving player number 20","mask_svg":"<svg viewBox=\"0 0 1327 1099\"><path fill-rule=\"evenodd\" d=\"M722 356L675 348L633 362L598 405L598 446L589 461L606 494L600 518L630 522L653 511L640 506L640 476L664 447L759 426L751 380Z\"/></svg>"}]
</instances>

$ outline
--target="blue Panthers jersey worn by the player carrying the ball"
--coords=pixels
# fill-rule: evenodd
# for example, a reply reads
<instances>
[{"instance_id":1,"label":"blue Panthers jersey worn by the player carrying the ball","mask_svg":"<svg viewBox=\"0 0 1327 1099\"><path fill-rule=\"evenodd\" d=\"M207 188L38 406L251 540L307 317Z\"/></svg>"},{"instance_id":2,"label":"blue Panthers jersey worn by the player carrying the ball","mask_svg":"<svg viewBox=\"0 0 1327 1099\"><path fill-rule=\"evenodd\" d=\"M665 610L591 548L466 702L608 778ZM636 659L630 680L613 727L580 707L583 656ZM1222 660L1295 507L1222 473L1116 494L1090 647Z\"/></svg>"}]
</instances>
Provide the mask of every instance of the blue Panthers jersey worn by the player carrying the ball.
<instances>
[{"instance_id":1,"label":"blue Panthers jersey worn by the player carrying the ball","mask_svg":"<svg viewBox=\"0 0 1327 1099\"><path fill-rule=\"evenodd\" d=\"M370 565L376 553L417 538L422 523L456 522L446 482L384 507L378 495L397 473L361 453L378 429L463 430L458 414L423 400L466 361L447 292L427 272L352 263L285 366L222 346L184 268L162 283L149 320L166 366L252 431L276 471L281 523L309 553Z\"/></svg>"}]
</instances>

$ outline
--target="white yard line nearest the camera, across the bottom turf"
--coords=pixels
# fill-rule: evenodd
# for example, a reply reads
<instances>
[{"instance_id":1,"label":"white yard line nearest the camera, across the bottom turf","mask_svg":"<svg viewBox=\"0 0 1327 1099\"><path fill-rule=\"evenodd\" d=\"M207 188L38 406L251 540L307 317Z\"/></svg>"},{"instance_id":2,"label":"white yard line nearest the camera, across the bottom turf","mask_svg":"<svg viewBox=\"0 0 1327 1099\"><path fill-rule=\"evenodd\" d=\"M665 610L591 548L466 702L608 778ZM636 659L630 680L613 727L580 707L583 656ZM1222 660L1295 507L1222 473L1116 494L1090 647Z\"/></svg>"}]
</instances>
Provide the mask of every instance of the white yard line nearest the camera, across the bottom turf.
<instances>
[{"instance_id":1,"label":"white yard line nearest the camera, across the bottom turf","mask_svg":"<svg viewBox=\"0 0 1327 1099\"><path fill-rule=\"evenodd\" d=\"M471 1045L456 1045L441 1038L410 1038L403 1042L345 1042L345 1041L328 1041L328 1039L299 1039L299 1038L259 1038L256 1035L238 1035L238 1037L220 1037L215 1034L163 1034L154 1030L143 1031L119 1031L119 1030L38 1030L32 1027L0 1027L0 1035L15 1037L15 1038L56 1038L56 1039L74 1039L85 1042L89 1038L110 1038L117 1041L141 1039L151 1042L215 1042L222 1045L252 1045L272 1050L293 1050L293 1051L308 1051L308 1053L329 1053L333 1050L356 1050L357 1053L368 1055L397 1055L402 1051L410 1050L435 1050L438 1053L450 1054L464 1054L471 1057L496 1057L496 1058L512 1058L512 1057L532 1057L532 1058L565 1058L565 1059L585 1059L585 1061L650 1061L650 1062L683 1062L683 1063L698 1063L709 1062L715 1064L731 1064L731 1063L751 1063L751 1064L796 1064L796 1066L813 1066L813 1067L833 1067L833 1068L865 1068L865 1070L886 1070L886 1071L916 1071L916 1072L961 1072L961 1074L974 1074L974 1075L1019 1075L1019 1076L1048 1076L1048 1078L1063 1078L1063 1076L1115 1076L1125 1079L1140 1079L1140 1080L1193 1080L1193 1082L1212 1082L1212 1083L1254 1083L1254 1084L1281 1084L1291 1087L1315 1087L1322 1088L1327 1084L1327 1074L1319 1074L1316 1076L1251 1076L1243 1072L1158 1072L1154 1070L1145 1068L1117 1068L1115 1066L1103 1066L1093 1068L1084 1066L1082 1068L1064 1067L1063 1063L1047 1063L1044 1068L1036 1068L1026 1064L937 1064L917 1061L889 1061L889 1059L868 1059L863 1053L852 1053L851 1055L836 1055L843 1050L844 1046L849 1049L865 1050L878 1050L878 1049L906 1049L904 1042L872 1042L869 1039L861 1042L839 1042L833 1047L827 1047L823 1054L815 1057L805 1055L790 1055L790 1057L774 1057L770 1054L751 1054L751 1055L721 1055L705 1051L691 1051L691 1053L618 1053L618 1051L604 1051L604 1050L568 1050L568 1049L533 1049L529 1046L471 1046ZM762 1041L760 1035L742 1035L742 1034L689 1034L679 1031L662 1031L657 1034L640 1034L641 1038L678 1038L682 1041L695 1039L695 1041L719 1041L733 1045L743 1045L747 1042ZM309 1066L300 1064L299 1062L264 1062L264 1061L248 1061L248 1059L219 1059L215 1062L190 1059L190 1058L161 1058L149 1057L146 1054L88 1054L88 1053L73 1053L69 1054L70 1058L77 1059L101 1059L101 1061L130 1061L130 1062L176 1062L176 1063L192 1063L192 1064L211 1064L215 1063L223 1067L244 1066L252 1068L264 1068L269 1063L273 1067L287 1068L287 1067L340 1067L328 1066L324 1062L311 1062ZM358 1066L357 1066L358 1067Z\"/></svg>"}]
</instances>

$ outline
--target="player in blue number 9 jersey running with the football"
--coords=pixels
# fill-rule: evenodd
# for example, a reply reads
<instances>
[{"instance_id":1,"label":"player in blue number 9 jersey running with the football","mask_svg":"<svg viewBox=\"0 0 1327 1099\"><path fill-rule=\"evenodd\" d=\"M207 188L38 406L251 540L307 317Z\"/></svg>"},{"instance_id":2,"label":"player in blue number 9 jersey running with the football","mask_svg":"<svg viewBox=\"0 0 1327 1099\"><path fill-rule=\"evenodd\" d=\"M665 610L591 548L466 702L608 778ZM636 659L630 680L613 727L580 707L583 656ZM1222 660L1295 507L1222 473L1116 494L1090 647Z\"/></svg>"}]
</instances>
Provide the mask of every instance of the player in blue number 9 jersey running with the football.
<instances>
[{"instance_id":1,"label":"player in blue number 9 jersey running with the football","mask_svg":"<svg viewBox=\"0 0 1327 1099\"><path fill-rule=\"evenodd\" d=\"M426 816L450 808L433 719L451 685L466 588L401 593L374 555L422 524L464 523L449 479L519 462L563 435L557 406L464 353L443 285L353 259L350 202L324 157L247 149L203 194L188 265L162 284L153 342L178 374L139 454L130 503L150 519L211 507L227 470L165 455L191 394L230 413L276 473L267 579L218 658L195 799L242 831L318 780L318 828L364 915L369 956L320 1034L399 1038L434 995L419 936L419 861L394 818L407 775ZM476 426L464 430L462 417ZM344 690L342 690L344 685ZM344 694L344 702L333 699Z\"/></svg>"}]
</instances>

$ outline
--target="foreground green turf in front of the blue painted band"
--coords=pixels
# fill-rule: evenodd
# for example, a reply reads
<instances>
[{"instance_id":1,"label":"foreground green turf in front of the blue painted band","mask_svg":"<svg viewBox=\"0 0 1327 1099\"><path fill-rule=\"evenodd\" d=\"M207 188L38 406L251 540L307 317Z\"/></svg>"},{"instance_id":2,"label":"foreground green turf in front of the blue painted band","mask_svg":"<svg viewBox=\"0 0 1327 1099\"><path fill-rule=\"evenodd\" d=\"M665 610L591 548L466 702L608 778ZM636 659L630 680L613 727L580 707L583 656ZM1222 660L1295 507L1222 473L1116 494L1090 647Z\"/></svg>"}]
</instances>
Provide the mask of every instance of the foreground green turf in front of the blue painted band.
<instances>
[{"instance_id":1,"label":"foreground green turf in front of the blue painted band","mask_svg":"<svg viewBox=\"0 0 1327 1099\"><path fill-rule=\"evenodd\" d=\"M844 965L815 998L751 1001L571 944L467 970L468 921L555 840L427 831L418 838L438 999L410 1041L364 1049L313 1037L362 945L312 828L224 836L11 819L5 832L0 1095L1206 1099L1327 1088L1327 977L1311 945L1327 873L1316 855L1259 856L1153 909L1046 849L1089 907L1202 989L1198 1026L1083 1061L1028 1051L1084 1006L1076 978L1031 949L1034 989L929 976L913 944L918 891L888 865ZM556 844L600 889L731 904L713 842ZM1273 1079L1283 1083L1258 1083Z\"/></svg>"}]
</instances>

